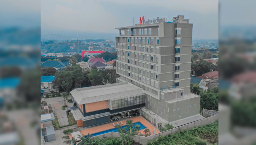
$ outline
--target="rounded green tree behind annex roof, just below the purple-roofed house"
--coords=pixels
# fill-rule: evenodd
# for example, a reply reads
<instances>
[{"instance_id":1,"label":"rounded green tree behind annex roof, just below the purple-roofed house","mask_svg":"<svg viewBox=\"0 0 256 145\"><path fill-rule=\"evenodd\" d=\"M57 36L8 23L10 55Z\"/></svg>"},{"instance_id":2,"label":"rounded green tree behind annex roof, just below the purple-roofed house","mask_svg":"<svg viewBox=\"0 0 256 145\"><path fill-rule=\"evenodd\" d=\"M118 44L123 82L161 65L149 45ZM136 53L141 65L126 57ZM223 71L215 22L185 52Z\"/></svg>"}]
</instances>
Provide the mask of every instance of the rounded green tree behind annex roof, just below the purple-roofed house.
<instances>
[{"instance_id":1,"label":"rounded green tree behind annex roof, just below the purple-roofed house","mask_svg":"<svg viewBox=\"0 0 256 145\"><path fill-rule=\"evenodd\" d=\"M86 76L89 78L91 84L93 84L93 85L101 85L102 84L102 81L103 81L102 73L100 73L100 71L98 71L97 69L92 69L90 71L90 73L87 74Z\"/></svg>"}]
</instances>

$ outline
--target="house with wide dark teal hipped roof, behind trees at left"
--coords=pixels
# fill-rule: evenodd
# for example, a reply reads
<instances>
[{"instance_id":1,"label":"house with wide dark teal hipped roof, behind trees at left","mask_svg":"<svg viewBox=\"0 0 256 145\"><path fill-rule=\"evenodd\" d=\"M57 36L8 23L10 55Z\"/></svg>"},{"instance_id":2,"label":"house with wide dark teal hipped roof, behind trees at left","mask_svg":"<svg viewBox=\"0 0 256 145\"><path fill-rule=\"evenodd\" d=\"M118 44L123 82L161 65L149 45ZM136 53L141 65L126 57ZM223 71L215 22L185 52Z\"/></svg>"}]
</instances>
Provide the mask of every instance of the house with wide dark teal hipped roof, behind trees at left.
<instances>
[{"instance_id":1,"label":"house with wide dark teal hipped roof, behind trees at left","mask_svg":"<svg viewBox=\"0 0 256 145\"><path fill-rule=\"evenodd\" d=\"M72 66L72 64L68 62L60 62L60 61L45 61L41 63L41 68L43 67L54 67L56 70L63 70L67 65Z\"/></svg>"}]
</instances>

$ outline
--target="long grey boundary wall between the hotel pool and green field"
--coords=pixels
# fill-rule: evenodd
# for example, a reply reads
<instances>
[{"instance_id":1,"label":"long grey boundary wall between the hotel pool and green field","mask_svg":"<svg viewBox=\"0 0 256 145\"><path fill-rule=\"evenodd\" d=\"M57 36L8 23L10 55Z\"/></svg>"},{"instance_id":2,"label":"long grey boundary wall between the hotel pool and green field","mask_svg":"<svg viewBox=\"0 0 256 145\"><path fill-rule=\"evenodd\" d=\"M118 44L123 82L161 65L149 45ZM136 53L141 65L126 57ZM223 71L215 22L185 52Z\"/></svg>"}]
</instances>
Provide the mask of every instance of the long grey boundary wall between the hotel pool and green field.
<instances>
[{"instance_id":1,"label":"long grey boundary wall between the hotel pool and green field","mask_svg":"<svg viewBox=\"0 0 256 145\"><path fill-rule=\"evenodd\" d=\"M176 128L170 129L170 130L166 130L166 131L157 133L155 135L151 135L151 136L147 136L147 137L135 135L135 137L133 137L132 140L135 142L138 142L142 145L146 145L148 140L156 139L159 136L175 134L177 132L180 132L181 130L187 130L187 129L190 130L194 127L212 124L212 123L216 122L218 119L219 119L219 115L217 114L217 115L214 115L214 116L211 116L208 118L198 120L193 123L189 123L189 124L186 124L186 125L183 125L180 127L176 127ZM101 135L97 135L97 136L99 136L100 138L117 138L117 137L119 137L119 133L118 132L109 132L109 133L105 133L105 134L101 134ZM93 136L93 138L94 137L96 137L96 136ZM77 143L77 145L81 145L81 144L82 144L81 142Z\"/></svg>"}]
</instances>

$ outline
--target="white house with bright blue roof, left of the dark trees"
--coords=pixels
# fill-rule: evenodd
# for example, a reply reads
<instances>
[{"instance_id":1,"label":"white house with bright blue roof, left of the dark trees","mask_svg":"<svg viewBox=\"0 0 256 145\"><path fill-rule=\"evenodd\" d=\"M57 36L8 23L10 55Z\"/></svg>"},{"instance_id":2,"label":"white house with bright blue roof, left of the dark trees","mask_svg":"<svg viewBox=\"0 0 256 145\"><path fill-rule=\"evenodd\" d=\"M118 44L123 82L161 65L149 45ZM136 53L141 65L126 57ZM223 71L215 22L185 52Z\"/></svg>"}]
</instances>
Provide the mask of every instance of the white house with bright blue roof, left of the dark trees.
<instances>
[{"instance_id":1,"label":"white house with bright blue roof, left of the dark trees","mask_svg":"<svg viewBox=\"0 0 256 145\"><path fill-rule=\"evenodd\" d=\"M59 92L59 88L53 88L53 80L55 76L42 76L41 77L41 90L43 94L50 93L51 91Z\"/></svg>"}]
</instances>

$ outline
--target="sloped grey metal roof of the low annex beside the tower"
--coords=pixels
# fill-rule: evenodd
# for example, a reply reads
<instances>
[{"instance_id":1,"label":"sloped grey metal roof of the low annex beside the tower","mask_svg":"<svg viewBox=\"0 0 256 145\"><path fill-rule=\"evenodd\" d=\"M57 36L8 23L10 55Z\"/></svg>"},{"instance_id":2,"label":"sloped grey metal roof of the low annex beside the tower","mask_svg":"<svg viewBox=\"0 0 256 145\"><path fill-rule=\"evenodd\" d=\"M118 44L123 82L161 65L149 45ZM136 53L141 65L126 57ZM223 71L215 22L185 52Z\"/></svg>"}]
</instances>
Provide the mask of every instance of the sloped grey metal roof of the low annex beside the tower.
<instances>
[{"instance_id":1,"label":"sloped grey metal roof of the low annex beside the tower","mask_svg":"<svg viewBox=\"0 0 256 145\"><path fill-rule=\"evenodd\" d=\"M128 82L75 88L71 95L78 104L143 95L143 89Z\"/></svg>"}]
</instances>

